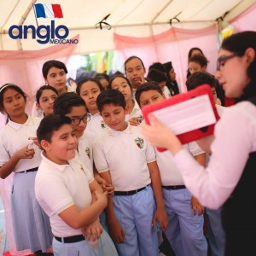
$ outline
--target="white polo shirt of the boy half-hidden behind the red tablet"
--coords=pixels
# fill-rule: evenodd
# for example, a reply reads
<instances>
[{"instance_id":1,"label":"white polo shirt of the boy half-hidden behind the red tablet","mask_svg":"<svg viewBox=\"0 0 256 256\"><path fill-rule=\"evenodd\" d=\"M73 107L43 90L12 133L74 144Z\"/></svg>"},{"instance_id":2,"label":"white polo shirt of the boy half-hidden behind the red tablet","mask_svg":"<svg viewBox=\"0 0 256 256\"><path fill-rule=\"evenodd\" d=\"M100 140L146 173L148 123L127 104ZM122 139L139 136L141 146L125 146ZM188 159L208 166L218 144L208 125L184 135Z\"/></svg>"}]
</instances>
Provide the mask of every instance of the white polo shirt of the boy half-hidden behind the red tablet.
<instances>
[{"instance_id":1,"label":"white polo shirt of the boy half-hidden behind the red tablet","mask_svg":"<svg viewBox=\"0 0 256 256\"><path fill-rule=\"evenodd\" d=\"M184 144L183 148L193 156L205 153L195 142ZM159 152L155 149L155 154L160 170L161 184L163 186L183 185L183 177L177 169L177 166L173 163L172 153L169 150Z\"/></svg>"}]
</instances>

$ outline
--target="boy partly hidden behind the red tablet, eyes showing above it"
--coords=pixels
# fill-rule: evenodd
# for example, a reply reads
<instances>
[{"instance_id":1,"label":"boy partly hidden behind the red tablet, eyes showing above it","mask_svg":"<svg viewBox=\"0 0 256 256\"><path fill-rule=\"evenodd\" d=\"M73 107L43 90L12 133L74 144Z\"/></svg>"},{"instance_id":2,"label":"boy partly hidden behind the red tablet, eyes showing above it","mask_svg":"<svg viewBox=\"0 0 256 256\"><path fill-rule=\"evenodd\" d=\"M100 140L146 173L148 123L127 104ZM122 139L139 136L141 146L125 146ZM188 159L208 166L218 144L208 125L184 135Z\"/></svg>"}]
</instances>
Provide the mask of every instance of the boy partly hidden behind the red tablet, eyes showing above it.
<instances>
[{"instance_id":1,"label":"boy partly hidden behind the red tablet, eyes showing above it","mask_svg":"<svg viewBox=\"0 0 256 256\"><path fill-rule=\"evenodd\" d=\"M142 84L135 96L141 108L166 99L154 82ZM184 147L195 158L205 154L196 143ZM183 177L172 162L172 154L169 151L155 152L169 221L166 237L176 256L207 256L207 240L203 234L204 207L184 186Z\"/></svg>"}]
</instances>

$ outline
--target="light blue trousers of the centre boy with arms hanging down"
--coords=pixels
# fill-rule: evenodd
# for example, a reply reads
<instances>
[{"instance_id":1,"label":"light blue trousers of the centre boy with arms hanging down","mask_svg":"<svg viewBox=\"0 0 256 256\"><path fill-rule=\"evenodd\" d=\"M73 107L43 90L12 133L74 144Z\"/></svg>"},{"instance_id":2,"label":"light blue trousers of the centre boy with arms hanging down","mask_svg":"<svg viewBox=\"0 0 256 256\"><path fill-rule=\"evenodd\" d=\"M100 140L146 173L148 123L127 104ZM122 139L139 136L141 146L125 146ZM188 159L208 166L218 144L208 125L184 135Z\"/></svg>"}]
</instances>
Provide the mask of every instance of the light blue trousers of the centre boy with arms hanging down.
<instances>
[{"instance_id":1,"label":"light blue trousers of the centre boy with arms hanging down","mask_svg":"<svg viewBox=\"0 0 256 256\"><path fill-rule=\"evenodd\" d=\"M151 186L135 195L114 195L115 216L125 232L125 243L116 243L119 256L157 256L157 232L151 226L155 212Z\"/></svg>"}]
</instances>

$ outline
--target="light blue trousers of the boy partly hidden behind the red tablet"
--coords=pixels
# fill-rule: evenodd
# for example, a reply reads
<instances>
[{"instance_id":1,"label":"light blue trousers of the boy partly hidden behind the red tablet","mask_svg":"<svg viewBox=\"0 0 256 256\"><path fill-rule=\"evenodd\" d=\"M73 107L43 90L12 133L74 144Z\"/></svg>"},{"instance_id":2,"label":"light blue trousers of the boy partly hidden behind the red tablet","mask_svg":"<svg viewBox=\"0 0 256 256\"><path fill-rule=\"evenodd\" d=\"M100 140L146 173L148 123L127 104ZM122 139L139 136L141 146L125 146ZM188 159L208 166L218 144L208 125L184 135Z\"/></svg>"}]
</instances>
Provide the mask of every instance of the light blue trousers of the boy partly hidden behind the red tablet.
<instances>
[{"instance_id":1,"label":"light blue trousers of the boy partly hidden behind the red tablet","mask_svg":"<svg viewBox=\"0 0 256 256\"><path fill-rule=\"evenodd\" d=\"M188 189L162 189L168 229L166 237L176 256L207 256L203 215L194 215Z\"/></svg>"}]
</instances>

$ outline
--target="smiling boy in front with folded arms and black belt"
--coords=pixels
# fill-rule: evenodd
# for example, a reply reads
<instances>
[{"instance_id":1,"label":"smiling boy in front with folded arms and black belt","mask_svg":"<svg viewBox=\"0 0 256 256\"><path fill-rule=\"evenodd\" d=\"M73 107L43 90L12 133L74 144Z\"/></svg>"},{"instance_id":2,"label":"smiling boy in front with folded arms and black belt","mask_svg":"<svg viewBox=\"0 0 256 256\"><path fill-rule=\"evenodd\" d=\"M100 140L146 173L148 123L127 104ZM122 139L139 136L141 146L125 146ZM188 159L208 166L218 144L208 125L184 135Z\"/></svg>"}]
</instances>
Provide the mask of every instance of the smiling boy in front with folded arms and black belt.
<instances>
[{"instance_id":1,"label":"smiling boy in front with folded arms and black belt","mask_svg":"<svg viewBox=\"0 0 256 256\"><path fill-rule=\"evenodd\" d=\"M100 185L75 157L78 142L71 119L48 115L41 121L37 137L44 151L35 193L49 215L55 256L117 255L98 220L108 203L107 192L102 193ZM97 248L91 247L96 240Z\"/></svg>"}]
</instances>

